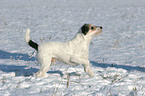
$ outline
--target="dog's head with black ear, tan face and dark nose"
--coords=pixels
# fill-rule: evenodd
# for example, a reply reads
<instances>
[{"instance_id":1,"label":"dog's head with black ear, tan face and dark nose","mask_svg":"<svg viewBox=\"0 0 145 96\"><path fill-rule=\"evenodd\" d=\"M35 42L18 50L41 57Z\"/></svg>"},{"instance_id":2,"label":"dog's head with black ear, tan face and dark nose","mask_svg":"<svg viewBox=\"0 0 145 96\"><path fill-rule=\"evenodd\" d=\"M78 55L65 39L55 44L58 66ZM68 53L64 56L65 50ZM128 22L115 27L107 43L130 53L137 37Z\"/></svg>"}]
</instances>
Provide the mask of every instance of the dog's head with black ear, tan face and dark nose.
<instances>
[{"instance_id":1,"label":"dog's head with black ear, tan face and dark nose","mask_svg":"<svg viewBox=\"0 0 145 96\"><path fill-rule=\"evenodd\" d=\"M102 26L94 26L92 24L84 24L81 27L81 33L85 36L97 36L102 33Z\"/></svg>"}]
</instances>

